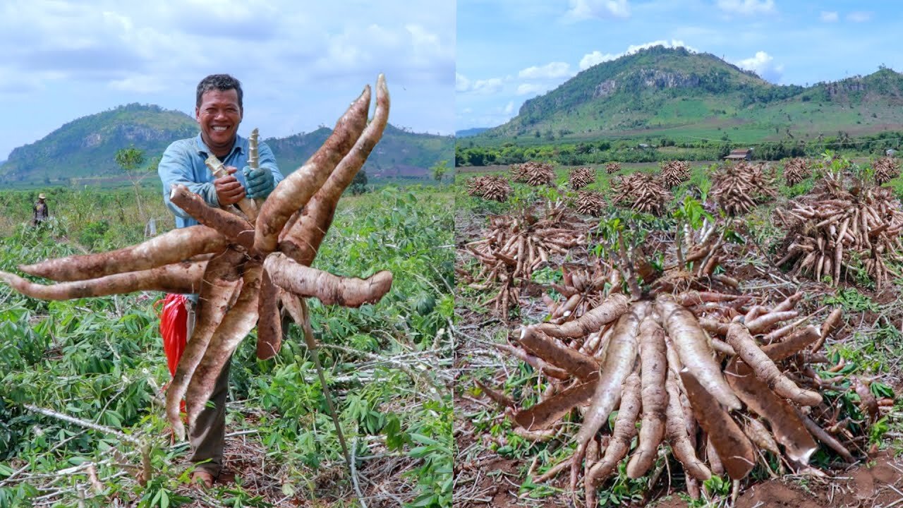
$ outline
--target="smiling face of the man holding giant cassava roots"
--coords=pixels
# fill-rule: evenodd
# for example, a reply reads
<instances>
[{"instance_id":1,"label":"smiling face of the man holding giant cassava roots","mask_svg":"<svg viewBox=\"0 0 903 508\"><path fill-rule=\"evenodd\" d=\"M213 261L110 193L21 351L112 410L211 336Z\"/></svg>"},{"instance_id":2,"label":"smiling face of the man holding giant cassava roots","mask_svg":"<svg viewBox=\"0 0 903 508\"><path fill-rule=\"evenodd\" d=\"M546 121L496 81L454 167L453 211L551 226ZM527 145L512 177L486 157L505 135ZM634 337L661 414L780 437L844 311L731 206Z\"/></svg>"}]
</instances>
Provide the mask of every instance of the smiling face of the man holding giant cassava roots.
<instances>
[{"instance_id":1,"label":"smiling face of the man holding giant cassava roots","mask_svg":"<svg viewBox=\"0 0 903 508\"><path fill-rule=\"evenodd\" d=\"M200 96L200 107L194 109L200 125L200 137L216 155L225 155L232 148L241 123L236 89L209 90Z\"/></svg>"}]
</instances>

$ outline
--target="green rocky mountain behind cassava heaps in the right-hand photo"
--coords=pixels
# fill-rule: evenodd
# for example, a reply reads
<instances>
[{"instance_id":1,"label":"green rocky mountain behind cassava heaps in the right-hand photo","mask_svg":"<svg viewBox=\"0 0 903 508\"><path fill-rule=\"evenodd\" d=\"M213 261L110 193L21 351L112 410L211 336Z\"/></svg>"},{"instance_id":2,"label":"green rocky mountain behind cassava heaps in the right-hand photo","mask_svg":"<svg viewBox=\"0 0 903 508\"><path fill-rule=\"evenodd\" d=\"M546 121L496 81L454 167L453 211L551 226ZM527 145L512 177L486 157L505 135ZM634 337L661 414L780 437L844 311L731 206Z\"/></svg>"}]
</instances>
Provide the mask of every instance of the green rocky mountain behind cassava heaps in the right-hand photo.
<instances>
[{"instance_id":1,"label":"green rocky mountain behind cassava heaps in the right-hand photo","mask_svg":"<svg viewBox=\"0 0 903 508\"><path fill-rule=\"evenodd\" d=\"M600 63L470 139L493 145L612 137L735 142L903 128L903 74L774 85L709 53L656 46Z\"/></svg>"}]
</instances>

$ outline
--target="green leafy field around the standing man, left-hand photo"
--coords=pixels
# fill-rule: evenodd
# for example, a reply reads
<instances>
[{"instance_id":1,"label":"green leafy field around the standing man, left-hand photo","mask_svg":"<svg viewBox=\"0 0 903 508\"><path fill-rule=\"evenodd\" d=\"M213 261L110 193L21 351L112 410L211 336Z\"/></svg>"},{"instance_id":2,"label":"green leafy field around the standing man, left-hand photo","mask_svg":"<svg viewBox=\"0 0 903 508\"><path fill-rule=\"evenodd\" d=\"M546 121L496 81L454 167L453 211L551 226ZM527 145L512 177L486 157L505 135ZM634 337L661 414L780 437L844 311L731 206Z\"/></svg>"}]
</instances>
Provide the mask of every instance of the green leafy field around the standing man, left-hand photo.
<instances>
[{"instance_id":1,"label":"green leafy field around the standing man, left-hand photo","mask_svg":"<svg viewBox=\"0 0 903 508\"><path fill-rule=\"evenodd\" d=\"M88 188L48 192L52 218L32 228L36 194L0 193L2 271L134 245L152 218L158 234L173 225L158 189ZM369 506L451 505L452 203L447 186L344 197L314 263L394 274L376 305L310 303L354 475L297 326L271 360L256 360L256 333L239 345L225 456L235 480L202 492L163 412L163 293L45 301L0 285L0 506L339 507L358 493ZM154 474L142 486L144 459Z\"/></svg>"}]
</instances>

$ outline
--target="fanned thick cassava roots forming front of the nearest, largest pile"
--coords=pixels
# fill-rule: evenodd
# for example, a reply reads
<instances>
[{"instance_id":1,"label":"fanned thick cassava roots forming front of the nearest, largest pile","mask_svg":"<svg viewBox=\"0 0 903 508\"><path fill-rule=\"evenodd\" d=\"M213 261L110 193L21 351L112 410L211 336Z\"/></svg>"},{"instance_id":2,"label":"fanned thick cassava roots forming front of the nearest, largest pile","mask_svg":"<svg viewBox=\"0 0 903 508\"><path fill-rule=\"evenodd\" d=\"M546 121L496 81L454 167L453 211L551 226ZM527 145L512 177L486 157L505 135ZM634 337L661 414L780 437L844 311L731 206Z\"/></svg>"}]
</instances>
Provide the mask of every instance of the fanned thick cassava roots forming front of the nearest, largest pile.
<instances>
[{"instance_id":1,"label":"fanned thick cassava roots forming front of the nearest, largest pile","mask_svg":"<svg viewBox=\"0 0 903 508\"><path fill-rule=\"evenodd\" d=\"M515 432L534 440L560 437L563 417L575 408L582 413L573 456L535 481L570 468L574 489L582 472L586 503L595 505L600 484L627 457L638 422L628 476L646 475L672 453L691 491L712 473L740 479L757 463L769 467L766 452L808 471L815 438L852 458L811 418L813 408L824 409L824 381L809 366L815 352L807 348L820 344L841 315L836 311L821 328L805 319L783 325L796 319L800 297L768 307L738 305L740 296L712 292L635 302L614 293L573 321L523 327L517 347L500 349L532 362L548 390L526 409L507 404ZM613 429L600 437L616 409Z\"/></svg>"}]
</instances>

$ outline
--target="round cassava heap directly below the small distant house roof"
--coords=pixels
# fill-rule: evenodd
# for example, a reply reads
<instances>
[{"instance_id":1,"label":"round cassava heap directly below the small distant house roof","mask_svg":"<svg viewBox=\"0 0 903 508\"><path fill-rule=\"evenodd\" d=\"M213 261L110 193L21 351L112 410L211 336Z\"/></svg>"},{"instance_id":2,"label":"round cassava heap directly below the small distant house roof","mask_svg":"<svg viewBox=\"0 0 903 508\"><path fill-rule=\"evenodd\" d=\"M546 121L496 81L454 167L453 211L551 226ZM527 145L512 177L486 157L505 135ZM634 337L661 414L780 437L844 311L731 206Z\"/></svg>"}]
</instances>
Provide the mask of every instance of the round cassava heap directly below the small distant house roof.
<instances>
[{"instance_id":1,"label":"round cassava heap directly below the small distant house roof","mask_svg":"<svg viewBox=\"0 0 903 508\"><path fill-rule=\"evenodd\" d=\"M727 163L712 175L712 198L730 215L749 212L757 202L775 197L777 189L773 178L765 174L764 163Z\"/></svg>"}]
</instances>

